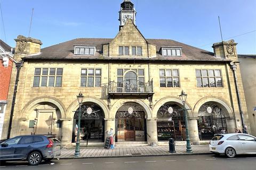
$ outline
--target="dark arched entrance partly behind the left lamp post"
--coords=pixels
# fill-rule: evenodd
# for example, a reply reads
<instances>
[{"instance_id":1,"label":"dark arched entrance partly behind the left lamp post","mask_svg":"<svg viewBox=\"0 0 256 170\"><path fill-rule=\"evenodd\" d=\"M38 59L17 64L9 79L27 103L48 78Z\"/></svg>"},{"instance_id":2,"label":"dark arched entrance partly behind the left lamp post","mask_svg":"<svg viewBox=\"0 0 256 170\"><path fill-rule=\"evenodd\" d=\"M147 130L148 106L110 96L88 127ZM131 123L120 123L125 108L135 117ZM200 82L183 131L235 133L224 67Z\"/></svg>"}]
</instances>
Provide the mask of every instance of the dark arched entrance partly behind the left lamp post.
<instances>
[{"instance_id":1,"label":"dark arched entrance partly behind the left lamp post","mask_svg":"<svg viewBox=\"0 0 256 170\"><path fill-rule=\"evenodd\" d=\"M72 142L75 142L76 128L78 123L78 110L75 111L73 120ZM81 143L104 142L105 121L102 108L91 102L83 103L81 106Z\"/></svg>"}]
</instances>

